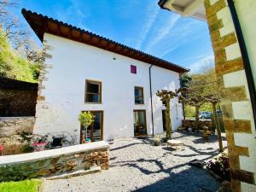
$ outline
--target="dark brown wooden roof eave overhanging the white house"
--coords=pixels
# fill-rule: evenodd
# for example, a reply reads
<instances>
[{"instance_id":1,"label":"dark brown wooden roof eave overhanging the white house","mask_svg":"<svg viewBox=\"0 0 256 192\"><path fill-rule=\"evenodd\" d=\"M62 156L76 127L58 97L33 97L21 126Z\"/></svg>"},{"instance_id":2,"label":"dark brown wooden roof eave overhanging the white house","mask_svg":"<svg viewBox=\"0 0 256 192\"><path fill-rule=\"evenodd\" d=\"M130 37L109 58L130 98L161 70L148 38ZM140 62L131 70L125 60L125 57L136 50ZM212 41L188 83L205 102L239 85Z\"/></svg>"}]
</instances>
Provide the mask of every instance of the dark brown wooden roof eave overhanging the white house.
<instances>
[{"instance_id":1,"label":"dark brown wooden roof eave overhanging the white house","mask_svg":"<svg viewBox=\"0 0 256 192\"><path fill-rule=\"evenodd\" d=\"M124 44L119 44L113 40L103 38L92 32L84 31L83 29L68 25L67 23L63 23L59 20L54 20L53 18L49 18L44 15L38 15L37 13L26 9L22 9L21 13L41 42L44 40L44 33L49 33L61 38L67 38L73 41L78 41L79 43L89 44L100 49L105 49L119 55L125 55L137 61L143 61L177 73L189 72L189 69L187 68L178 66L169 61L164 61L153 55L148 55L143 51L132 49ZM66 32L65 34L64 31Z\"/></svg>"}]
</instances>

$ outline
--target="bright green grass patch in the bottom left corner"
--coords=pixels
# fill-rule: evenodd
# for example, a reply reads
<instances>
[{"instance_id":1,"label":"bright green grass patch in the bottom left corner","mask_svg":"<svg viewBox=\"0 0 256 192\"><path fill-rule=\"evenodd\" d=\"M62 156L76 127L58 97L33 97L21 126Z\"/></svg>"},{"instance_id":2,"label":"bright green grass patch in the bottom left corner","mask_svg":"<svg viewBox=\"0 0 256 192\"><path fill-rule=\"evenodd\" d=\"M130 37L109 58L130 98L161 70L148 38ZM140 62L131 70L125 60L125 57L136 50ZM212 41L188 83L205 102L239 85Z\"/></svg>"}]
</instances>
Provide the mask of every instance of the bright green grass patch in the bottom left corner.
<instances>
[{"instance_id":1,"label":"bright green grass patch in the bottom left corner","mask_svg":"<svg viewBox=\"0 0 256 192\"><path fill-rule=\"evenodd\" d=\"M38 186L41 184L40 179L24 180L20 182L0 183L1 192L38 192Z\"/></svg>"}]
</instances>

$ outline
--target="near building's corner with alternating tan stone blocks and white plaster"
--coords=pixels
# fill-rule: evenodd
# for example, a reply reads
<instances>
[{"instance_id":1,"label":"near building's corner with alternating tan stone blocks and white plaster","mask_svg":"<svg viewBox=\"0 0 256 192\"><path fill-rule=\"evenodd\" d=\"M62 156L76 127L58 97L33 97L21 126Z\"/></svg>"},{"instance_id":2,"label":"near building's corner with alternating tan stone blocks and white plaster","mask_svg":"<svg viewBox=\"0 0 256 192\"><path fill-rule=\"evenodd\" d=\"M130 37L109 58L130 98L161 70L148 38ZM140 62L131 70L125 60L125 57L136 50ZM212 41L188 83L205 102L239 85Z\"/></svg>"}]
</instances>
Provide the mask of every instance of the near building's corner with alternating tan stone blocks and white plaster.
<instances>
[{"instance_id":1,"label":"near building's corner with alternating tan stone blocks and white plaster","mask_svg":"<svg viewBox=\"0 0 256 192\"><path fill-rule=\"evenodd\" d=\"M244 63L226 0L205 0L234 192L256 191L256 138ZM253 25L253 24L252 24Z\"/></svg>"}]
</instances>

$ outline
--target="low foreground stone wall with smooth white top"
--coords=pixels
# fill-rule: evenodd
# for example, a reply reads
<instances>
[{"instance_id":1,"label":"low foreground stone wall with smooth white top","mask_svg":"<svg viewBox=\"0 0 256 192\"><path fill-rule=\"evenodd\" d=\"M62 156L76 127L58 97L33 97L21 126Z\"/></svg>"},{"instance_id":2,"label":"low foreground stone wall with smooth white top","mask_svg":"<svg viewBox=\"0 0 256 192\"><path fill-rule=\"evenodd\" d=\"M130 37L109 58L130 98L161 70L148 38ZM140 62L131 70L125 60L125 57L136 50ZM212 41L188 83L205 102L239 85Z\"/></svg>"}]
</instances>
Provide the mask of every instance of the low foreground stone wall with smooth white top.
<instances>
[{"instance_id":1,"label":"low foreground stone wall with smooth white top","mask_svg":"<svg viewBox=\"0 0 256 192\"><path fill-rule=\"evenodd\" d=\"M109 145L86 143L67 148L0 157L0 182L48 177L64 172L89 170L91 166L109 167Z\"/></svg>"}]
</instances>

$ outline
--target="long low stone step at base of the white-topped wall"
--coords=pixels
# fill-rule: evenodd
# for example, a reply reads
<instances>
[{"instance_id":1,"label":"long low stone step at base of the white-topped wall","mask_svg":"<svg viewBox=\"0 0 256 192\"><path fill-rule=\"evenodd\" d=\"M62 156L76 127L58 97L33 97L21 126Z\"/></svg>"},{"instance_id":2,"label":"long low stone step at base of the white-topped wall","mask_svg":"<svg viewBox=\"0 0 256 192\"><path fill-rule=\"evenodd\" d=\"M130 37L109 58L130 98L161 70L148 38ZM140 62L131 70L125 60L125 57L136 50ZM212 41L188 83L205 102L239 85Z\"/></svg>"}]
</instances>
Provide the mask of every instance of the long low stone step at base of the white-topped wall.
<instances>
[{"instance_id":1,"label":"long low stone step at base of the white-topped wall","mask_svg":"<svg viewBox=\"0 0 256 192\"><path fill-rule=\"evenodd\" d=\"M96 166L93 168L90 168L89 170L79 170L76 172L68 172L61 175L53 176L53 177L46 177L46 180L55 180L55 179L63 179L63 178L69 178L69 177L78 177L82 175L87 175L91 173L101 172L102 168L101 166Z\"/></svg>"}]
</instances>

